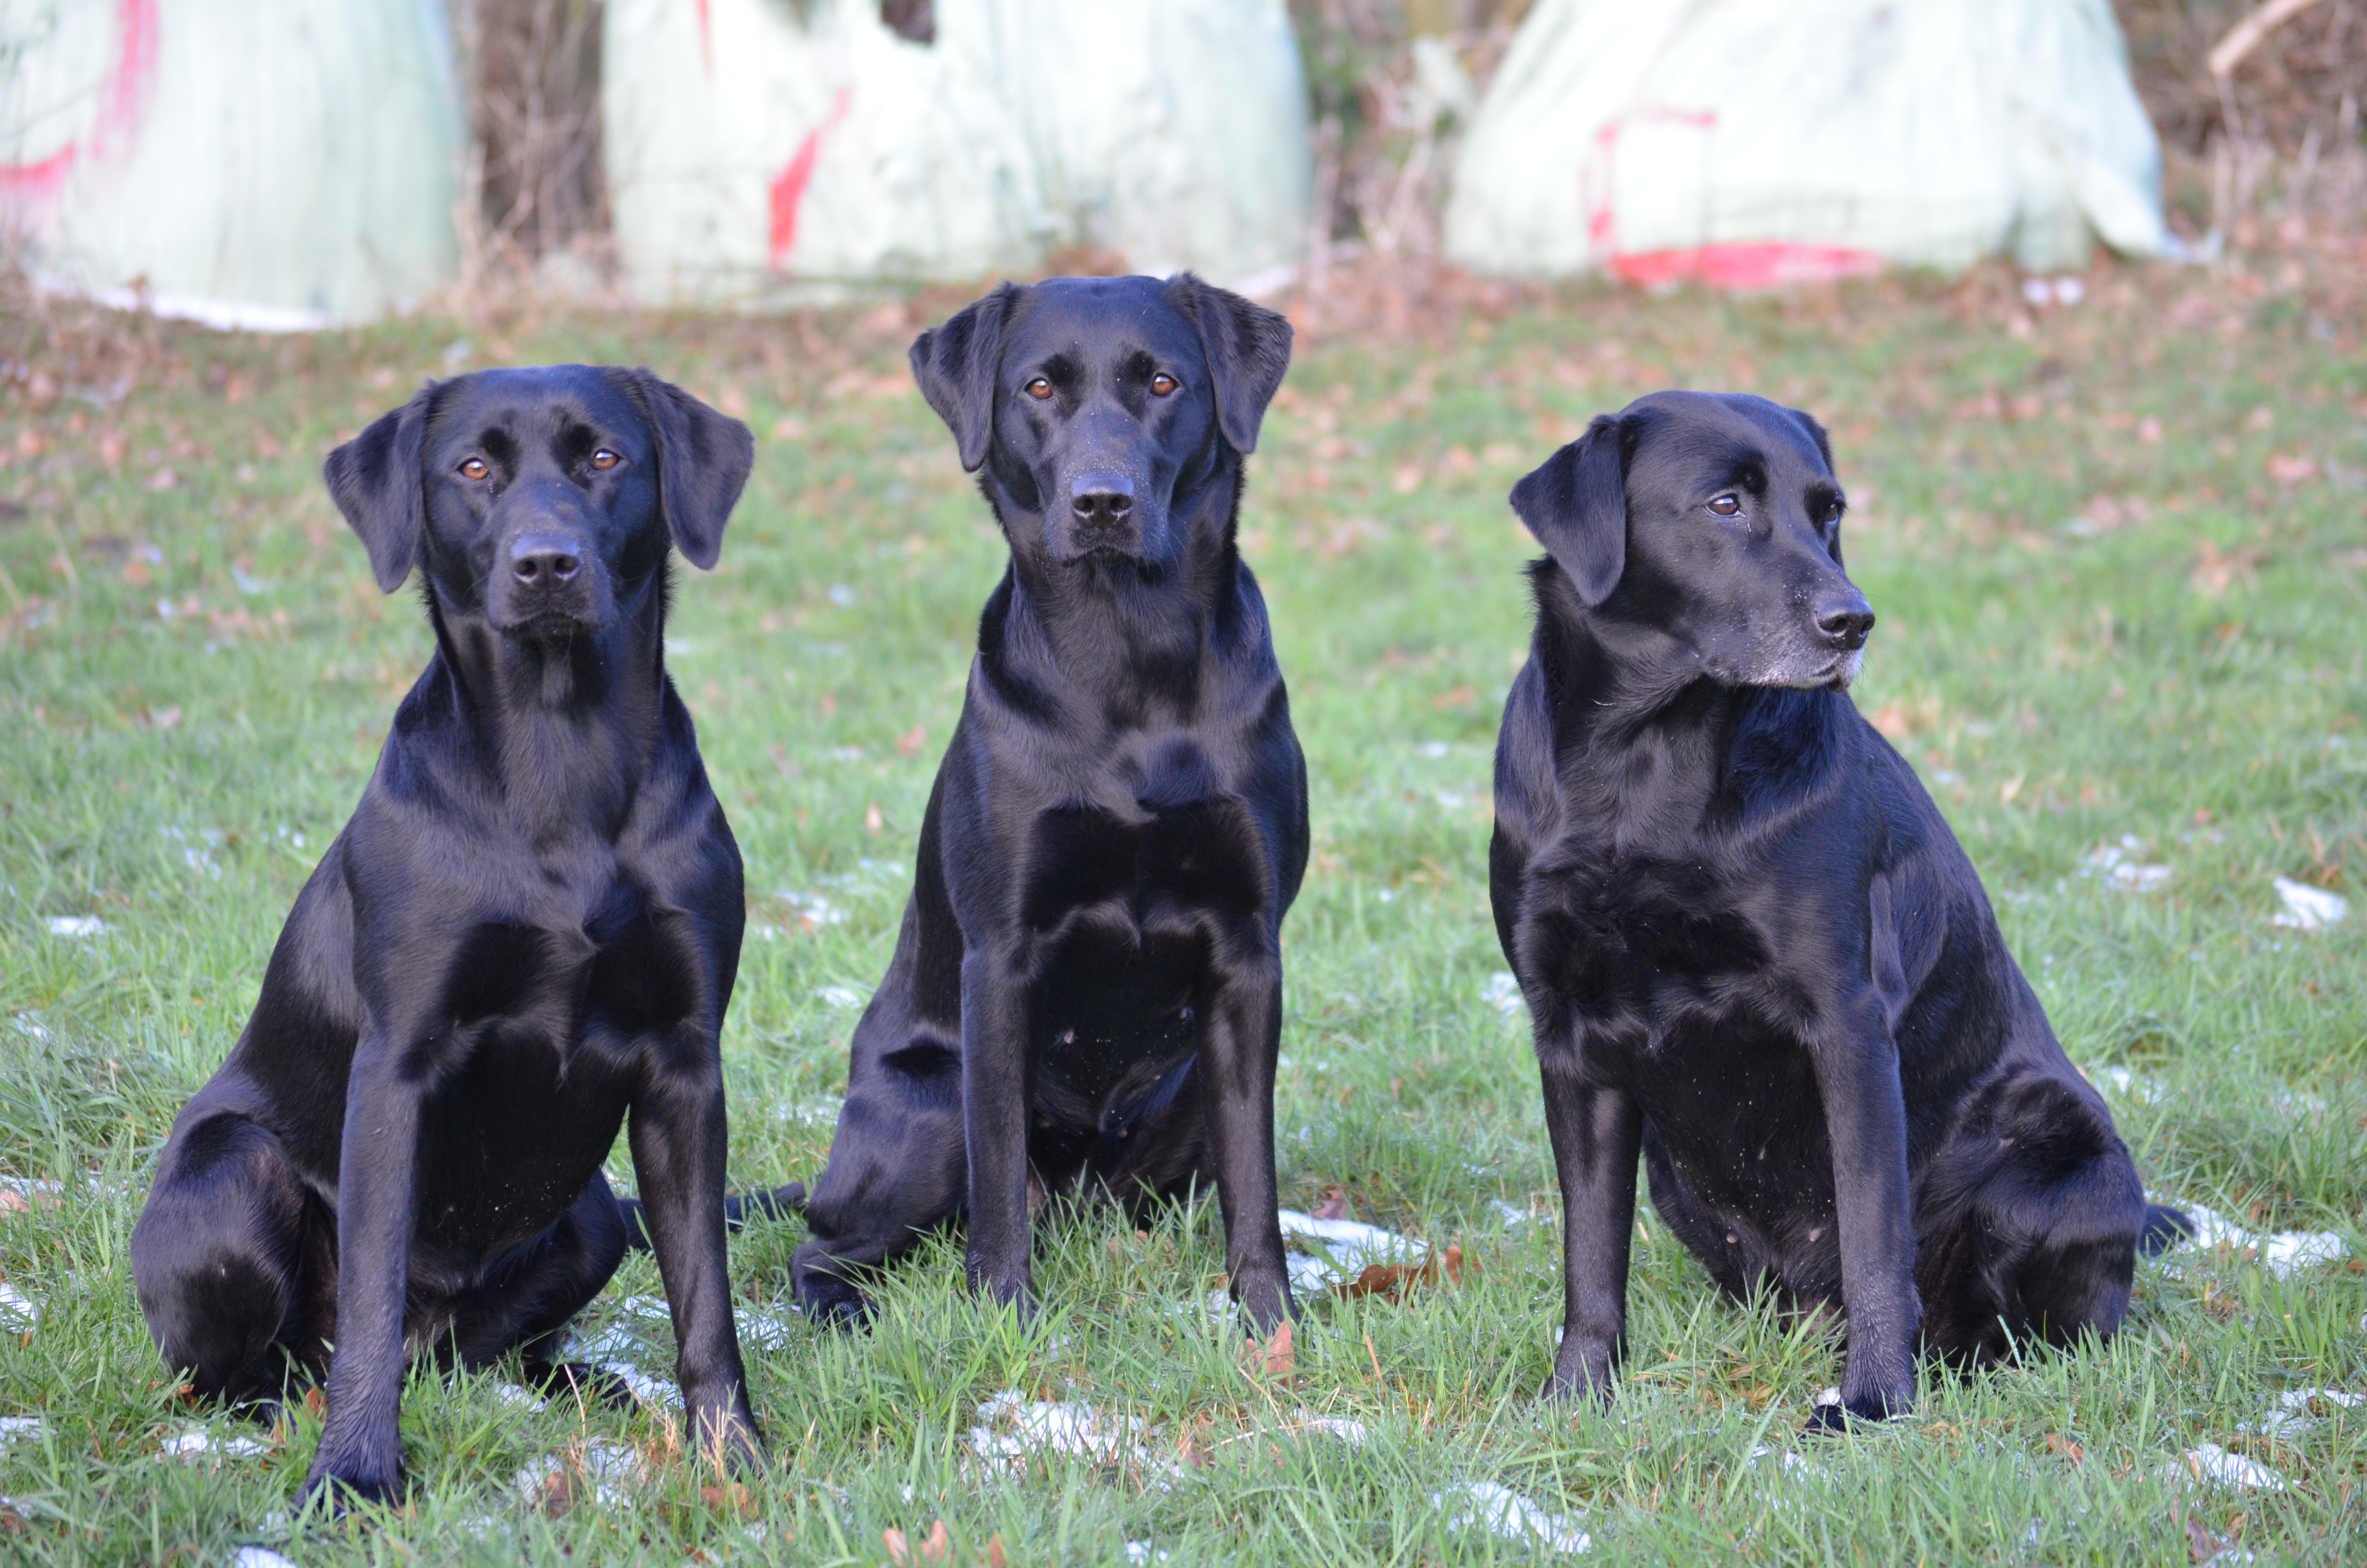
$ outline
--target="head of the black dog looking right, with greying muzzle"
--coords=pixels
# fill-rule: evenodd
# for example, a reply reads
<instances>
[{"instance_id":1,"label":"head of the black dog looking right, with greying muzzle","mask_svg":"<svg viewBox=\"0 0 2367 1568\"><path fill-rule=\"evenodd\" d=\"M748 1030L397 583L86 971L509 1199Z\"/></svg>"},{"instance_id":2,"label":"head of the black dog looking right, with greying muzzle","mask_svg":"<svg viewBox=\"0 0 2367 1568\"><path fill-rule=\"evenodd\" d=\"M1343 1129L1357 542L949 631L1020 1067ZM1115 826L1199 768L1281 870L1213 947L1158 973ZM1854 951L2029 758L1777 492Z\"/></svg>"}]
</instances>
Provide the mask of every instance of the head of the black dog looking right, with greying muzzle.
<instances>
[{"instance_id":1,"label":"head of the black dog looking right, with greying muzzle","mask_svg":"<svg viewBox=\"0 0 2367 1568\"><path fill-rule=\"evenodd\" d=\"M1513 486L1591 611L1737 687L1858 677L1875 611L1842 571L1844 507L1825 429L1740 393L1638 398Z\"/></svg>"}]
</instances>

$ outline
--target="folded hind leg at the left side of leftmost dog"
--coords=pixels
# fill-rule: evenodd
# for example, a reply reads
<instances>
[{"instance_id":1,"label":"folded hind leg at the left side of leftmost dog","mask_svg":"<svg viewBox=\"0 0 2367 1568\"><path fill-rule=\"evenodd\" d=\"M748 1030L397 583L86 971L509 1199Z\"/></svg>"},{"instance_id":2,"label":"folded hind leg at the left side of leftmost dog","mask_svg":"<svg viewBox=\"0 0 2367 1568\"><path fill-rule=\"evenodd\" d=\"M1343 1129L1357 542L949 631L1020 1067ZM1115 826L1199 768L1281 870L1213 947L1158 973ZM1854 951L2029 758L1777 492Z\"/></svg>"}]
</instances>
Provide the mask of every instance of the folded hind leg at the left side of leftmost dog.
<instances>
[{"instance_id":1,"label":"folded hind leg at the left side of leftmost dog","mask_svg":"<svg viewBox=\"0 0 2367 1568\"><path fill-rule=\"evenodd\" d=\"M303 1317L305 1227L324 1222L279 1139L237 1113L173 1132L133 1227L140 1315L206 1400L279 1395ZM305 1357L308 1360L308 1357Z\"/></svg>"}]
</instances>

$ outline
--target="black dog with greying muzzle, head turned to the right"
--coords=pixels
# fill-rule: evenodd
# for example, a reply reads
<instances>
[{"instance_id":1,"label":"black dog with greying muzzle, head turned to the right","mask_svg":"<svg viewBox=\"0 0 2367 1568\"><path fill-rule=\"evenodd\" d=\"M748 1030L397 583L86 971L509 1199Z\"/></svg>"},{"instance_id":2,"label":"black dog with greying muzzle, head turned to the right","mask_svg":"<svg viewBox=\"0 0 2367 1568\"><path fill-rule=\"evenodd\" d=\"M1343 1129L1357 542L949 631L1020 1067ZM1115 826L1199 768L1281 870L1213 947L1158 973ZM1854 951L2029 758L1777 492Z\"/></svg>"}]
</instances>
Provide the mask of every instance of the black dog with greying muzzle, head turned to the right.
<instances>
[{"instance_id":1,"label":"black dog with greying muzzle, head turned to the right","mask_svg":"<svg viewBox=\"0 0 2367 1568\"><path fill-rule=\"evenodd\" d=\"M1875 613L1842 507L1813 419L1702 393L1595 419L1513 490L1550 557L1489 895L1562 1182L1555 1393L1612 1388L1638 1146L1718 1286L1844 1307L1851 1416L1913 1405L1917 1326L1972 1364L2111 1334L2140 1241L2185 1227L1844 696Z\"/></svg>"}]
</instances>

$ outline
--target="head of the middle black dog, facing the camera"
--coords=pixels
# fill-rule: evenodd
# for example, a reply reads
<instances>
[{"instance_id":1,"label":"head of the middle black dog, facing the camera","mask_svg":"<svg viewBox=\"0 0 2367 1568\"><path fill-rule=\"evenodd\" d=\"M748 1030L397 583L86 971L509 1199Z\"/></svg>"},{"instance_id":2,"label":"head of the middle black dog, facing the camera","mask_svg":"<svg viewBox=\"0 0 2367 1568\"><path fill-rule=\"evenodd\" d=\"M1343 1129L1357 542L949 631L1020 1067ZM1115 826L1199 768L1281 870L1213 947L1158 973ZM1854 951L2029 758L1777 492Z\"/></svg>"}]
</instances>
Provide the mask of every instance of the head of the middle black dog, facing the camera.
<instances>
[{"instance_id":1,"label":"head of the middle black dog, facing the camera","mask_svg":"<svg viewBox=\"0 0 2367 1568\"><path fill-rule=\"evenodd\" d=\"M1174 564L1288 367L1290 322L1191 272L1004 284L911 346L1013 547L1053 564Z\"/></svg>"}]
</instances>

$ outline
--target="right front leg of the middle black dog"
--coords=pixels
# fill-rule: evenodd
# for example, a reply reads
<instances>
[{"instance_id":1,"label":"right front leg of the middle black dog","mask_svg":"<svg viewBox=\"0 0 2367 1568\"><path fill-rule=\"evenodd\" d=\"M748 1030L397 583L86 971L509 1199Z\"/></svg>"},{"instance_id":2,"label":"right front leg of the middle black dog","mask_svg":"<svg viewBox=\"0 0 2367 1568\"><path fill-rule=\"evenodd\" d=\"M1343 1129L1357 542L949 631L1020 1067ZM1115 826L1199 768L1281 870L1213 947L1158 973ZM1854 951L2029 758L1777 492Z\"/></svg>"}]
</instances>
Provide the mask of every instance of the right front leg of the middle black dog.
<instances>
[{"instance_id":1,"label":"right front leg of the middle black dog","mask_svg":"<svg viewBox=\"0 0 2367 1568\"><path fill-rule=\"evenodd\" d=\"M1207 1116L1224 1208L1224 1270L1259 1334L1297 1317L1273 1199L1273 1059L1283 1040L1283 962L1259 931L1221 957L1205 1000Z\"/></svg>"}]
</instances>

